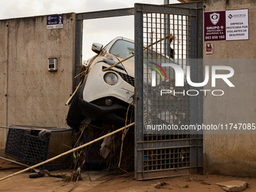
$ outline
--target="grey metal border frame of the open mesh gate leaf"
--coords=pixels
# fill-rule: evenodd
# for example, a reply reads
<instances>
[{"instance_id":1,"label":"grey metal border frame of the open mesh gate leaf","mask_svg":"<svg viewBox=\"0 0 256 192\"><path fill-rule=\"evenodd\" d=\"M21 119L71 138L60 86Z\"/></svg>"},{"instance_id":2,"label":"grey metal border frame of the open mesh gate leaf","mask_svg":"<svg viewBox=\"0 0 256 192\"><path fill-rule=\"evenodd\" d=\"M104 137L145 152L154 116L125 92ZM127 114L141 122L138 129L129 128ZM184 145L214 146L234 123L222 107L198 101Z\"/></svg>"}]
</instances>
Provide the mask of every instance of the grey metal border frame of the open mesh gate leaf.
<instances>
[{"instance_id":1,"label":"grey metal border frame of the open mesh gate leaf","mask_svg":"<svg viewBox=\"0 0 256 192\"><path fill-rule=\"evenodd\" d=\"M181 14L190 17L190 59L197 59L197 63L190 63L191 80L194 82L203 81L203 2L177 4L177 5L145 5L135 4L135 177L137 180L151 178L164 178L175 175L187 175L187 169L161 169L151 172L144 171L143 151L149 148L143 141L143 12L153 12L160 14ZM156 11L155 8L158 8ZM192 76L193 74L193 76ZM195 89L195 88L194 88ZM202 87L197 87L198 90ZM203 96L192 97L190 99L190 124L203 123ZM166 144L167 143L167 144ZM156 143L152 143L154 145ZM157 142L158 148L172 146L173 142ZM151 145L151 148L152 148ZM154 145L154 146L156 146ZM190 172L203 172L203 134L190 135L190 146L195 146L193 153L190 153ZM178 147L178 146L177 146ZM154 148L157 149L157 146ZM192 151L192 150L191 150ZM161 172L161 174L159 174Z\"/></svg>"}]
</instances>

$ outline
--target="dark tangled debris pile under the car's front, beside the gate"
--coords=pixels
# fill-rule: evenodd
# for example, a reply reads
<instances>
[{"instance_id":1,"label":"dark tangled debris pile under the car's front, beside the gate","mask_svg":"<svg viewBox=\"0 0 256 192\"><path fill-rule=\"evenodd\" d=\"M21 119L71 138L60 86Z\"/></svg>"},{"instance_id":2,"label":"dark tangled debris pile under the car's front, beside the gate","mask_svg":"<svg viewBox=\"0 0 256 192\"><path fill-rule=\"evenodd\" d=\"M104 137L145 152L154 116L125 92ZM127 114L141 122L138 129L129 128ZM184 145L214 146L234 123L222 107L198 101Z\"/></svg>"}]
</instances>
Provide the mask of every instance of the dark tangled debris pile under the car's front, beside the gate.
<instances>
[{"instance_id":1,"label":"dark tangled debris pile under the car's front, beside the gate","mask_svg":"<svg viewBox=\"0 0 256 192\"><path fill-rule=\"evenodd\" d=\"M75 146L83 145L100 136L105 136L109 132L117 130L117 127L105 124L102 127L93 125L82 125L80 131L75 133ZM123 133L119 132L113 136L106 137L103 141L95 142L92 145L74 151L72 160L74 169L84 166L81 169L96 169L102 168L105 171L114 171L114 173L123 173L132 171L134 167L134 126L126 132L123 139L123 150L120 153L122 145ZM122 156L120 161L120 155ZM120 164L120 166L119 166Z\"/></svg>"}]
</instances>

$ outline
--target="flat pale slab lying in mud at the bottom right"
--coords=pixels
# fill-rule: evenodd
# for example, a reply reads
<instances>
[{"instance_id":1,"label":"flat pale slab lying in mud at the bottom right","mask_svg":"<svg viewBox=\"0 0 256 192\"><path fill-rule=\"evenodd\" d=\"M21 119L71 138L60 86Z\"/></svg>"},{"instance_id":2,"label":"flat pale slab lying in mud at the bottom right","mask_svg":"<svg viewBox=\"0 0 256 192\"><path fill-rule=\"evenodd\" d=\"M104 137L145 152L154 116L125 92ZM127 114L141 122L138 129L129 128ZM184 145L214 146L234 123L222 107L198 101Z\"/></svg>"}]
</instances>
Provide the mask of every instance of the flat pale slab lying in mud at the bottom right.
<instances>
[{"instance_id":1,"label":"flat pale slab lying in mud at the bottom right","mask_svg":"<svg viewBox=\"0 0 256 192\"><path fill-rule=\"evenodd\" d=\"M223 190L230 191L242 191L245 190L248 184L245 181L225 181L221 183L216 183Z\"/></svg>"}]
</instances>

